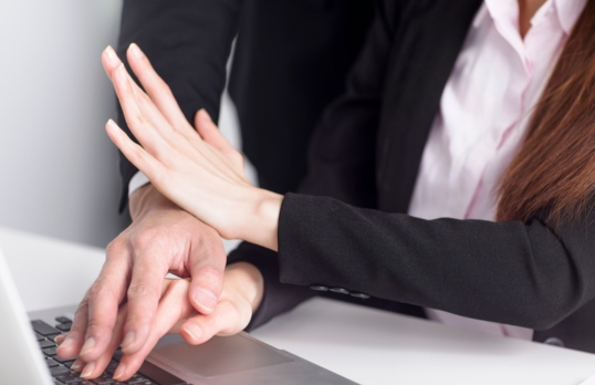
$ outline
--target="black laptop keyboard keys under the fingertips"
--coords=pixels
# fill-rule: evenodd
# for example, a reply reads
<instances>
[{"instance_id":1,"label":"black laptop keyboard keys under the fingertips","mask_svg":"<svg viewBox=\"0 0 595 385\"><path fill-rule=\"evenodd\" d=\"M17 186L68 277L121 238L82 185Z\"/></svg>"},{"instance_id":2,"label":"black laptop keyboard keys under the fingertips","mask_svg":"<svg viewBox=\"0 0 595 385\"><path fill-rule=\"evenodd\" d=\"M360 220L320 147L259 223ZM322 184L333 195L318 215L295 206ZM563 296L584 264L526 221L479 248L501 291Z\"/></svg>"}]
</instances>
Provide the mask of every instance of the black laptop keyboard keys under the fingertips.
<instances>
[{"instance_id":1,"label":"black laptop keyboard keys under the fingertips","mask_svg":"<svg viewBox=\"0 0 595 385\"><path fill-rule=\"evenodd\" d=\"M62 360L55 354L58 348L54 343L54 337L59 334L70 331L72 321L65 316L55 319L55 326L51 326L41 320L31 321L31 325L35 331L38 343L45 357L45 364L54 379L55 384L69 385L188 385L182 379L174 376L171 373L153 365L149 362L144 362L138 373L125 382L117 382L112 376L116 371L118 361L122 357L122 352L118 350L107 365L105 372L97 378L83 379L80 374L72 371L71 366L74 360Z\"/></svg>"}]
</instances>

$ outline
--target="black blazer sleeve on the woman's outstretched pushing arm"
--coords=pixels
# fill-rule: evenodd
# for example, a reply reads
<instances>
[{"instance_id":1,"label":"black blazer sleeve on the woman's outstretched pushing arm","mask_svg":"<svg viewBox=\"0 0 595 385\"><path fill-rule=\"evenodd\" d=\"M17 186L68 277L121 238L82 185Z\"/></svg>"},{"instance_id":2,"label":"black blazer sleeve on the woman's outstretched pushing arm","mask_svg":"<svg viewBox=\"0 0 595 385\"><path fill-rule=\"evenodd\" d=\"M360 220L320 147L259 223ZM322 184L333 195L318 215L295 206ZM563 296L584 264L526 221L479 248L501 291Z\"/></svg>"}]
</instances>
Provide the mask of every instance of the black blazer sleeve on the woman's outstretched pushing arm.
<instances>
[{"instance_id":1,"label":"black blazer sleeve on the woman's outstretched pushing arm","mask_svg":"<svg viewBox=\"0 0 595 385\"><path fill-rule=\"evenodd\" d=\"M544 218L422 220L289 194L279 222L281 281L544 330L595 296L595 212L557 226Z\"/></svg>"}]
</instances>

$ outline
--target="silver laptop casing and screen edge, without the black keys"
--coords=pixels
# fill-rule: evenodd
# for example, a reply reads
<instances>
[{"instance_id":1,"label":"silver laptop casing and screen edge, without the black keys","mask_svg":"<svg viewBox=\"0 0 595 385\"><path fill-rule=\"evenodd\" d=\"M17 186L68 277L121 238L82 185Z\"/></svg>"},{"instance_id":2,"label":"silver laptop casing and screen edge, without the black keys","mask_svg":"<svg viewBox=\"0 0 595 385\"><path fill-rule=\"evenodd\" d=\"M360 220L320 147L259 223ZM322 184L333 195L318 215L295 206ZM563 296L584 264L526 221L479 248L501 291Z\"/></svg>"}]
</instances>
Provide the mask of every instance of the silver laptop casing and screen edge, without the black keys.
<instances>
[{"instance_id":1,"label":"silver laptop casing and screen edge, without the black keys","mask_svg":"<svg viewBox=\"0 0 595 385\"><path fill-rule=\"evenodd\" d=\"M72 320L75 309L73 305L27 314L0 250L0 384L53 385L29 320L42 320L53 326L58 316ZM146 361L146 365L156 365L195 385L355 384L247 333L213 337L199 346L187 344L179 335L166 335Z\"/></svg>"}]
</instances>

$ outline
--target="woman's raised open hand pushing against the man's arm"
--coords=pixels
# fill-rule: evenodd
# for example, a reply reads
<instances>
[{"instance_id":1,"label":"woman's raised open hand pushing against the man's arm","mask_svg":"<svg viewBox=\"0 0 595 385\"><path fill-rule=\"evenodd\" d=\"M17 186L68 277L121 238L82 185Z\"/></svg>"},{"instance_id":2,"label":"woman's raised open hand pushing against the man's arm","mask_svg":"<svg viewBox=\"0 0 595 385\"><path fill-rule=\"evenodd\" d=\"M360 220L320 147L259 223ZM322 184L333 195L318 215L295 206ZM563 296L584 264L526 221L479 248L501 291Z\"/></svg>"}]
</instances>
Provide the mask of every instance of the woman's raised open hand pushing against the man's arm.
<instances>
[{"instance_id":1,"label":"woman's raised open hand pushing against the man's arm","mask_svg":"<svg viewBox=\"0 0 595 385\"><path fill-rule=\"evenodd\" d=\"M223 238L244 239L276 250L283 197L248 181L241 154L220 134L206 111L197 113L197 131L192 128L138 46L132 44L127 56L146 93L112 48L105 50L103 64L126 122L142 146L113 121L106 125L109 138L161 194Z\"/></svg>"}]
</instances>

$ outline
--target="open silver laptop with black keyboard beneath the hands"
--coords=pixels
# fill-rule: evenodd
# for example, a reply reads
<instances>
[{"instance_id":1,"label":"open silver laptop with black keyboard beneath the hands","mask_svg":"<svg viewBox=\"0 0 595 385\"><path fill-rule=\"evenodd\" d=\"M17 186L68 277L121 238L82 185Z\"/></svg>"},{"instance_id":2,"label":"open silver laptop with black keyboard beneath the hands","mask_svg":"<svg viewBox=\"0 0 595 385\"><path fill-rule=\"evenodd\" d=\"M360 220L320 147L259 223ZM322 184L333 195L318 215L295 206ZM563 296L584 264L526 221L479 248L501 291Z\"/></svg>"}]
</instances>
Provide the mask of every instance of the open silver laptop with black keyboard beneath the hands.
<instances>
[{"instance_id":1,"label":"open silver laptop with black keyboard beneath the hands","mask_svg":"<svg viewBox=\"0 0 595 385\"><path fill-rule=\"evenodd\" d=\"M198 346L179 335L164 336L129 381L112 379L119 353L98 379L84 381L73 361L55 355L53 339L70 329L76 305L27 314L0 250L0 384L355 384L247 333L213 337Z\"/></svg>"}]
</instances>

